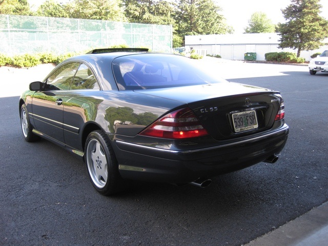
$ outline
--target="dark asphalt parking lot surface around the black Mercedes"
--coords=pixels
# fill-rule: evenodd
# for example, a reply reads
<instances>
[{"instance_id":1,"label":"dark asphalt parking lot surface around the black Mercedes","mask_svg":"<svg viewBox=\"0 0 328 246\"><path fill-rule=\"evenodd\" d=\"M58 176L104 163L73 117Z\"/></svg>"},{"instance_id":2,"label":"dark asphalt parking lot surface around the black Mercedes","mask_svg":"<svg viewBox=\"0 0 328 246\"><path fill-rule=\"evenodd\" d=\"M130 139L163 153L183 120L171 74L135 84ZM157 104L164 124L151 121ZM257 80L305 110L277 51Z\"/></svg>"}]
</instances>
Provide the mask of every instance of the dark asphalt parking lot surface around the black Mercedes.
<instances>
[{"instance_id":1,"label":"dark asphalt parking lot surface around the black Mercedes","mask_svg":"<svg viewBox=\"0 0 328 246\"><path fill-rule=\"evenodd\" d=\"M328 73L198 62L229 81L281 91L290 136L279 160L215 177L206 189L134 182L112 197L93 190L78 157L22 137L18 95L52 67L0 68L0 245L242 245L328 201Z\"/></svg>"}]
</instances>

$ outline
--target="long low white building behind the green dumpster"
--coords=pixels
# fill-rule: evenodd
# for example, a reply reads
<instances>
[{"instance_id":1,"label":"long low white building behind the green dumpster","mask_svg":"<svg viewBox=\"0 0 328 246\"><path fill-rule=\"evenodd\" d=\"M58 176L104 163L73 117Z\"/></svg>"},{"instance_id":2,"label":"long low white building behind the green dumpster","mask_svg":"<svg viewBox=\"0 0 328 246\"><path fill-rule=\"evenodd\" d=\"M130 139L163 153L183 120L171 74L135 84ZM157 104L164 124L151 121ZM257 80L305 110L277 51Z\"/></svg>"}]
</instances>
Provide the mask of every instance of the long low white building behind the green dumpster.
<instances>
[{"instance_id":1,"label":"long low white building behind the green dumpster","mask_svg":"<svg viewBox=\"0 0 328 246\"><path fill-rule=\"evenodd\" d=\"M264 54L269 52L297 52L290 48L279 49L280 37L277 33L190 35L185 36L185 46L230 60L243 60L247 52L256 52L257 60L265 60ZM328 43L328 38L323 43ZM324 50L328 50L328 45L318 50L302 51L301 57L310 60L312 54Z\"/></svg>"}]
</instances>

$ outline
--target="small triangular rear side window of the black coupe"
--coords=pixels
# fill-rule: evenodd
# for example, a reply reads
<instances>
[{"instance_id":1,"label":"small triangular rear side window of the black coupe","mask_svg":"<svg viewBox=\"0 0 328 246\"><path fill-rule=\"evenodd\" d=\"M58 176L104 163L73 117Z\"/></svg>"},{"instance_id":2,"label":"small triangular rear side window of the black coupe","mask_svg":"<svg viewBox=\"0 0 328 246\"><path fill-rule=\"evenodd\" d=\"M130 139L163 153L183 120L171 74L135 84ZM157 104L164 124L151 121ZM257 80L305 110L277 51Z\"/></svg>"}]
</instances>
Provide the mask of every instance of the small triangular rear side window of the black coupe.
<instances>
[{"instance_id":1,"label":"small triangular rear side window of the black coupe","mask_svg":"<svg viewBox=\"0 0 328 246\"><path fill-rule=\"evenodd\" d=\"M97 80L87 65L81 64L78 68L71 90L94 89L99 90Z\"/></svg>"}]
</instances>

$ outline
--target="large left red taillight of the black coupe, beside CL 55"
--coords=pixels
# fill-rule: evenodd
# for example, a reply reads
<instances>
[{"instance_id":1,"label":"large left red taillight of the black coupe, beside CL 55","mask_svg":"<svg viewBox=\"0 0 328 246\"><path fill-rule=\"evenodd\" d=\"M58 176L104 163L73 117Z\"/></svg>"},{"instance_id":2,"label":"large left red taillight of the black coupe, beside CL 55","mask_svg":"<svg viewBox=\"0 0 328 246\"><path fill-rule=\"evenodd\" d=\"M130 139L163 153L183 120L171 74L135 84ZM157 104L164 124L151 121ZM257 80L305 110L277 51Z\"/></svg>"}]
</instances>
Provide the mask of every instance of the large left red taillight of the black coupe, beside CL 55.
<instances>
[{"instance_id":1,"label":"large left red taillight of the black coupe, beside CL 55","mask_svg":"<svg viewBox=\"0 0 328 246\"><path fill-rule=\"evenodd\" d=\"M183 139L208 135L199 119L189 108L173 111L140 133L144 136Z\"/></svg>"}]
</instances>

